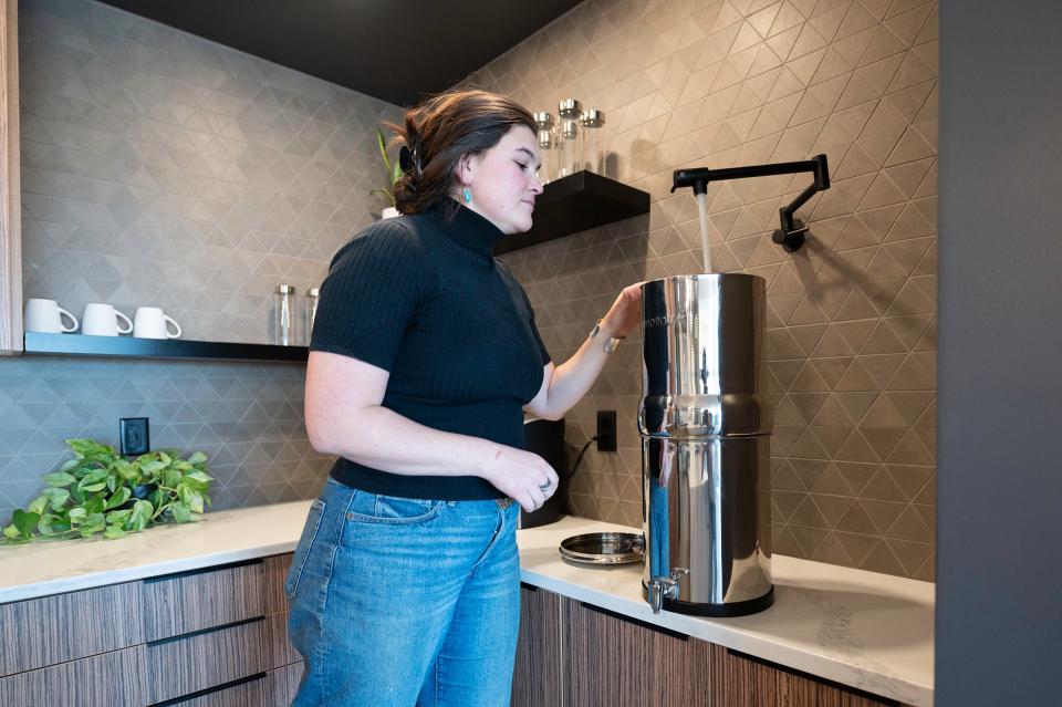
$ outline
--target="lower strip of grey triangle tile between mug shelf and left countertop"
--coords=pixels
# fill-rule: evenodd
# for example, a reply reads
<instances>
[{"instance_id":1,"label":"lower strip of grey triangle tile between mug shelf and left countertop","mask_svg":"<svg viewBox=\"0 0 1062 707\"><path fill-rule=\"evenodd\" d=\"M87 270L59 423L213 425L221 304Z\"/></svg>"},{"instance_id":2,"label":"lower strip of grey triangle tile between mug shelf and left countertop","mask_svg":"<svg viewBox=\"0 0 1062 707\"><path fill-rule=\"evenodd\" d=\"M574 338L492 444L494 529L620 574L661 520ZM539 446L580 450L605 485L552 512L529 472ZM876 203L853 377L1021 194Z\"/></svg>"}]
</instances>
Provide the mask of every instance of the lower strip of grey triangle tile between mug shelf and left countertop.
<instances>
[{"instance_id":1,"label":"lower strip of grey triangle tile between mug shelf and left countertop","mask_svg":"<svg viewBox=\"0 0 1062 707\"><path fill-rule=\"evenodd\" d=\"M87 436L117 447L118 418L145 414L150 420L153 448L207 455L216 477L211 485L215 509L312 498L320 491L332 458L314 451L306 438L301 415L304 376L299 364L0 358L0 381L46 382L55 391L80 392L79 396L92 391L96 396L95 402L22 403L23 398L41 397L44 388L6 389L15 404L48 406L52 414L43 420L22 417L0 434L0 523L7 523L14 508L24 508L37 497L43 475L70 458L64 439ZM154 385L143 385L148 380ZM230 385L236 380L242 381L238 387ZM118 389L126 392L124 399L108 405L103 396ZM219 393L226 389L238 392L238 399ZM149 405L155 391L163 397L199 399ZM204 399L208 395L212 399ZM282 403L279 395L285 396ZM85 405L102 406L106 413L97 419L85 414ZM196 407L210 408L209 423L199 419ZM253 425L241 422L251 409L262 419ZM273 424L281 417L283 424Z\"/></svg>"}]
</instances>

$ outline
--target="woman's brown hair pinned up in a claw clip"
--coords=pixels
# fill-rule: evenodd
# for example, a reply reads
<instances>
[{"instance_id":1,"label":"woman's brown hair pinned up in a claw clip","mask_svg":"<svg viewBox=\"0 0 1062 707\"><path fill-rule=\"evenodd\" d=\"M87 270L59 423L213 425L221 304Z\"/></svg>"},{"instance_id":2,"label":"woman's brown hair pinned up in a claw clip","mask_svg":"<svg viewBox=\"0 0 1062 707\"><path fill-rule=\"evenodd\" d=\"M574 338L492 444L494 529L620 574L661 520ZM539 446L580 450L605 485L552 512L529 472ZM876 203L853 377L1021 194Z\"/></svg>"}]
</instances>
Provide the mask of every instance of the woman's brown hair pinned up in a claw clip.
<instances>
[{"instance_id":1,"label":"woman's brown hair pinned up in a claw clip","mask_svg":"<svg viewBox=\"0 0 1062 707\"><path fill-rule=\"evenodd\" d=\"M516 125L534 132L534 117L512 98L489 91L454 91L406 111L402 125L385 123L405 143L395 183L395 206L419 214L450 193L466 155L487 152Z\"/></svg>"}]
</instances>

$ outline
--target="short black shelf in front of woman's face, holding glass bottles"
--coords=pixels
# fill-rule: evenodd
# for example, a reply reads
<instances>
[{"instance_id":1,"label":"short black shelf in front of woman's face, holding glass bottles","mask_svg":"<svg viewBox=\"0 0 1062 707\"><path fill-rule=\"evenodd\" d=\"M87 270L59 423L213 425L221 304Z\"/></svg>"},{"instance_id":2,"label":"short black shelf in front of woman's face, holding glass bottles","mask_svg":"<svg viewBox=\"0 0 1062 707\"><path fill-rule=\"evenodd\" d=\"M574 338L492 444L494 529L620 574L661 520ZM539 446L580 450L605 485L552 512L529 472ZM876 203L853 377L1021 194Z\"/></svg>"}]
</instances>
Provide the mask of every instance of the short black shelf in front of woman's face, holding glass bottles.
<instances>
[{"instance_id":1,"label":"short black shelf in front of woman's face, holding glass bottles","mask_svg":"<svg viewBox=\"0 0 1062 707\"><path fill-rule=\"evenodd\" d=\"M500 256L587 228L649 212L649 195L593 171L576 171L545 185L534 204L534 226L498 241Z\"/></svg>"}]
</instances>

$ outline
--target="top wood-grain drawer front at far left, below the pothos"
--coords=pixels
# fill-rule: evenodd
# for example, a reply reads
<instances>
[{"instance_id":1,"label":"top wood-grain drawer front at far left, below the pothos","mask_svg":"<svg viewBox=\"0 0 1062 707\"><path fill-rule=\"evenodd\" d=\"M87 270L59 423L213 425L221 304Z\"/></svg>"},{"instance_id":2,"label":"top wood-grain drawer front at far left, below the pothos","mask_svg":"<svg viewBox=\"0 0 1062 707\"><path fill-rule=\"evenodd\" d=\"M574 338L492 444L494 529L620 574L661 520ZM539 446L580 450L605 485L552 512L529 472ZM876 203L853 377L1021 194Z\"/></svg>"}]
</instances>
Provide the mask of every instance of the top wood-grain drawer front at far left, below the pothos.
<instances>
[{"instance_id":1,"label":"top wood-grain drawer front at far left, below the pothos","mask_svg":"<svg viewBox=\"0 0 1062 707\"><path fill-rule=\"evenodd\" d=\"M0 677L144 643L142 615L137 582L0 604Z\"/></svg>"}]
</instances>

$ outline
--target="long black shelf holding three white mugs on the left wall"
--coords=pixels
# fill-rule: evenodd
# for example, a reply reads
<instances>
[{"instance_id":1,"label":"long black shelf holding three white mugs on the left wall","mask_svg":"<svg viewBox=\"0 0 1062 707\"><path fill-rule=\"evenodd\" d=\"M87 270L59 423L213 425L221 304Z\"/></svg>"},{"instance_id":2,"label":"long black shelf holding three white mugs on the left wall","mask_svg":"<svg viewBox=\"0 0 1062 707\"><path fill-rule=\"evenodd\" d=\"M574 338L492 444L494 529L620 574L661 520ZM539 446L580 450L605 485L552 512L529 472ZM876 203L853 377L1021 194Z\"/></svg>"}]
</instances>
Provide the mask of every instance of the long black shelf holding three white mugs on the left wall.
<instances>
[{"instance_id":1,"label":"long black shelf holding three white mugs on the left wall","mask_svg":"<svg viewBox=\"0 0 1062 707\"><path fill-rule=\"evenodd\" d=\"M114 358L225 358L230 361L305 361L305 346L239 344L183 339L136 339L134 336L86 336L27 332L28 356L98 356Z\"/></svg>"}]
</instances>

